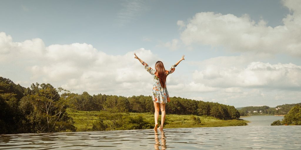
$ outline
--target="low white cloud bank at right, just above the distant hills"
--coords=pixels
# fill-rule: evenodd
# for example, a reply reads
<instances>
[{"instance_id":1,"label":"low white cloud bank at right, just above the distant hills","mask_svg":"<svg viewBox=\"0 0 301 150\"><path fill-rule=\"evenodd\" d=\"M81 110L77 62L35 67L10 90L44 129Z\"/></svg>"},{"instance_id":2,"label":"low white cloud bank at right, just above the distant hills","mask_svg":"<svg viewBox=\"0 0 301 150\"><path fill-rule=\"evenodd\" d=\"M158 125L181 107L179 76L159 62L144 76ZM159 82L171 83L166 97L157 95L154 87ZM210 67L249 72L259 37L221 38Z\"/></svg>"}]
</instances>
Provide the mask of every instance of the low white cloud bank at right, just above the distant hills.
<instances>
[{"instance_id":1,"label":"low white cloud bank at right, just above the distant hills","mask_svg":"<svg viewBox=\"0 0 301 150\"><path fill-rule=\"evenodd\" d=\"M206 65L203 70L195 70L194 81L212 87L245 88L301 88L301 66L295 64L269 64L251 62L246 68Z\"/></svg>"}]
</instances>

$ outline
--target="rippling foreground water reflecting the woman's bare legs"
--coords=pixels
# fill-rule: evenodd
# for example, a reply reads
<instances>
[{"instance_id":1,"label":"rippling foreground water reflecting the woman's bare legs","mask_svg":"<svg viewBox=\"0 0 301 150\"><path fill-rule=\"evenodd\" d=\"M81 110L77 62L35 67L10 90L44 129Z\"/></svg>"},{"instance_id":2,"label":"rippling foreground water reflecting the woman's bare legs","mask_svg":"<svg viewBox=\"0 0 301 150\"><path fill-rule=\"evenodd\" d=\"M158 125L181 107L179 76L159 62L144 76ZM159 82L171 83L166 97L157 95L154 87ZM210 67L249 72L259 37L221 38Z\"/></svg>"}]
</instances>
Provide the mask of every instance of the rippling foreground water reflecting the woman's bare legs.
<instances>
[{"instance_id":1,"label":"rippling foreground water reflecting the woman's bare legs","mask_svg":"<svg viewBox=\"0 0 301 150\"><path fill-rule=\"evenodd\" d=\"M1 135L0 149L301 149L300 126Z\"/></svg>"}]
</instances>

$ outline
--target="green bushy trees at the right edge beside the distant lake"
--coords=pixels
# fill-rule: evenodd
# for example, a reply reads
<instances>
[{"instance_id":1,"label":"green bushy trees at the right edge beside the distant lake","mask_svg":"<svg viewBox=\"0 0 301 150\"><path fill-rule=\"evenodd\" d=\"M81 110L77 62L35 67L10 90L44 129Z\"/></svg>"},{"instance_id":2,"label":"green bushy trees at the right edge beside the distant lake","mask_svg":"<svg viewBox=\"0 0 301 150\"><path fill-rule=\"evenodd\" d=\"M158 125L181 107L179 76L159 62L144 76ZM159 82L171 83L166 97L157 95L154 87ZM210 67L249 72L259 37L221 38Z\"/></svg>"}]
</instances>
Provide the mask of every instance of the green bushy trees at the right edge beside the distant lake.
<instances>
[{"instance_id":1,"label":"green bushy trees at the right edge beside the distant lake","mask_svg":"<svg viewBox=\"0 0 301 150\"><path fill-rule=\"evenodd\" d=\"M282 121L277 120L271 125L301 125L301 107L296 105L284 116Z\"/></svg>"}]
</instances>

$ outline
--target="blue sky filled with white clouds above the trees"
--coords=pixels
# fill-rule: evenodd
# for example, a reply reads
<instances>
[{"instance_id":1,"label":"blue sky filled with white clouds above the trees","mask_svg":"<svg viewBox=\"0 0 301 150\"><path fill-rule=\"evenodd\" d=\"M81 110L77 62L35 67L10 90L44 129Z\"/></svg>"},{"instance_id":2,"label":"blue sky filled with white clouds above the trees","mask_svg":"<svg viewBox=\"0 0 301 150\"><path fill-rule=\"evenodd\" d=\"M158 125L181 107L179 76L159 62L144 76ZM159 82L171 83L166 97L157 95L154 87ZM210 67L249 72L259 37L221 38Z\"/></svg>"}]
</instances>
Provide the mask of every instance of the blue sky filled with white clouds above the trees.
<instances>
[{"instance_id":1,"label":"blue sky filled with white clouds above the trees","mask_svg":"<svg viewBox=\"0 0 301 150\"><path fill-rule=\"evenodd\" d=\"M2 0L0 76L24 87L171 97L234 107L301 102L301 1Z\"/></svg>"}]
</instances>

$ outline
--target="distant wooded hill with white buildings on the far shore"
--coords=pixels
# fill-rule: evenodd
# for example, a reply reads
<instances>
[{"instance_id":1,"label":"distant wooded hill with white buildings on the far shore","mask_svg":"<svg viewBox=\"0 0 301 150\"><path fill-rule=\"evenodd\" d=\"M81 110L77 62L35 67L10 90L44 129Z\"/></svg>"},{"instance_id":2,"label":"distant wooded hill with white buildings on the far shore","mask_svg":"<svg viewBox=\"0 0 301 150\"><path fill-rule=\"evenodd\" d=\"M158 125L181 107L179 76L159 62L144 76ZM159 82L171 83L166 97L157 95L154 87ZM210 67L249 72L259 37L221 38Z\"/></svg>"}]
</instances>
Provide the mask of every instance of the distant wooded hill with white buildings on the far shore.
<instances>
[{"instance_id":1,"label":"distant wooded hill with white buildings on the far shore","mask_svg":"<svg viewBox=\"0 0 301 150\"><path fill-rule=\"evenodd\" d=\"M241 107L237 108L240 116L250 116L250 115L286 115L291 108L296 105L301 105L301 103L297 104L283 104L278 105L276 107L268 107L268 106L249 106L249 107ZM257 112L254 112L257 111Z\"/></svg>"}]
</instances>

